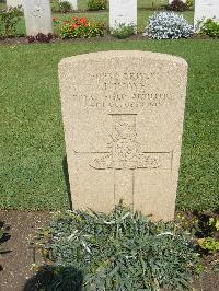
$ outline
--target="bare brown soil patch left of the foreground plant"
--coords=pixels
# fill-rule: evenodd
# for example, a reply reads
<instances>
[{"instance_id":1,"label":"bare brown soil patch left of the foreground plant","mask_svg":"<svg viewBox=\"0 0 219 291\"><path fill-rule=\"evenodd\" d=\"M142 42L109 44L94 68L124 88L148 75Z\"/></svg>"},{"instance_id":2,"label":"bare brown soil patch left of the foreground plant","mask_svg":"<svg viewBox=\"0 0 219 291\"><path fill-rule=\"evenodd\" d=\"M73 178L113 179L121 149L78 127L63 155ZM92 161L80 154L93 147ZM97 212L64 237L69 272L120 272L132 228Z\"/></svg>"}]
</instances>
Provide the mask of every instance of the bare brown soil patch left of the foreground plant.
<instances>
[{"instance_id":1,"label":"bare brown soil patch left of the foreground plant","mask_svg":"<svg viewBox=\"0 0 219 291\"><path fill-rule=\"evenodd\" d=\"M9 233L2 244L8 252L0 256L0 291L21 291L25 281L33 276L31 265L34 256L27 237L45 225L48 219L48 211L0 210L0 223L4 223Z\"/></svg>"}]
</instances>

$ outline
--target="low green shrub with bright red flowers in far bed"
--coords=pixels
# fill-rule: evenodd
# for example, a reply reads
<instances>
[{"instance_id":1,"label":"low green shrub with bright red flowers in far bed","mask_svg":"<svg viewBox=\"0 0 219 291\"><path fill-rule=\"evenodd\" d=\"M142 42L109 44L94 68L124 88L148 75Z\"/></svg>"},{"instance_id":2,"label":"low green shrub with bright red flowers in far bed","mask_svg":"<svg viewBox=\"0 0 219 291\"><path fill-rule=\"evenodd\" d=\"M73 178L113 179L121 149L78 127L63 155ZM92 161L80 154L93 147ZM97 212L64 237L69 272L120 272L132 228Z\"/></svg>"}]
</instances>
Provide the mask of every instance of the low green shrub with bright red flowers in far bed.
<instances>
[{"instance_id":1,"label":"low green shrub with bright red flowers in far bed","mask_svg":"<svg viewBox=\"0 0 219 291\"><path fill-rule=\"evenodd\" d=\"M61 38L89 38L104 35L104 23L89 22L85 18L73 18L71 21L54 20L59 26L59 35Z\"/></svg>"}]
</instances>

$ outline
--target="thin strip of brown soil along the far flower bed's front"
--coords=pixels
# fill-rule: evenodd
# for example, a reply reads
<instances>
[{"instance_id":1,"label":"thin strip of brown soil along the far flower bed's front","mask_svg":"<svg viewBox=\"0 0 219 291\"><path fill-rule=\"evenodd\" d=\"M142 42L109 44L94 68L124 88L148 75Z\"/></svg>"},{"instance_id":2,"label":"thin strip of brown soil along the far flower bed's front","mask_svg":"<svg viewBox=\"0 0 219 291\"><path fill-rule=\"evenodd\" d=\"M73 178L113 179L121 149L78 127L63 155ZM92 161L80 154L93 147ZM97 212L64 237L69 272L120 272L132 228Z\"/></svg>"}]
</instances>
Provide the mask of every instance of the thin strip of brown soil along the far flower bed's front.
<instances>
[{"instance_id":1,"label":"thin strip of brown soil along the far flower bed's front","mask_svg":"<svg viewBox=\"0 0 219 291\"><path fill-rule=\"evenodd\" d=\"M142 33L131 35L130 37L128 37L126 39L129 39L129 40L150 40L147 36L143 36ZM210 37L208 35L194 34L188 39L210 39ZM110 34L106 34L104 36L99 36L99 37L73 38L73 39L61 39L61 38L55 36L53 38L53 40L50 40L50 43L51 44L65 44L65 43L78 44L78 43L101 43L101 42L105 43L105 42L115 42L115 40L118 40L118 38L110 35ZM33 44L37 44L37 42L28 43L26 37L13 37L13 38L0 39L0 46L1 45L27 45L27 44L33 45Z\"/></svg>"}]
</instances>

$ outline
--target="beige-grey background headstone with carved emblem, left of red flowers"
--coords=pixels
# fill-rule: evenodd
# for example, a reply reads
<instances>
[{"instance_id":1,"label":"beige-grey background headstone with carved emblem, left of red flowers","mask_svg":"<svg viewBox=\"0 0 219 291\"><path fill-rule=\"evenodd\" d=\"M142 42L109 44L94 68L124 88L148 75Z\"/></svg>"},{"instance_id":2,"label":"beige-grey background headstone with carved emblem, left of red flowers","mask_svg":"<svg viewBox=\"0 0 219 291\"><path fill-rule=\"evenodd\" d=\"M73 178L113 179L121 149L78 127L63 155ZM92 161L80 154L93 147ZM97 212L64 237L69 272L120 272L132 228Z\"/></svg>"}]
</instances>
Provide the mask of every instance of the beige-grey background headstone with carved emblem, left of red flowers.
<instances>
[{"instance_id":1,"label":"beige-grey background headstone with carved emblem, left of red flowers","mask_svg":"<svg viewBox=\"0 0 219 291\"><path fill-rule=\"evenodd\" d=\"M23 0L26 35L53 33L49 0Z\"/></svg>"}]
</instances>

